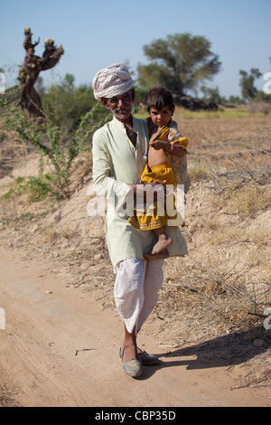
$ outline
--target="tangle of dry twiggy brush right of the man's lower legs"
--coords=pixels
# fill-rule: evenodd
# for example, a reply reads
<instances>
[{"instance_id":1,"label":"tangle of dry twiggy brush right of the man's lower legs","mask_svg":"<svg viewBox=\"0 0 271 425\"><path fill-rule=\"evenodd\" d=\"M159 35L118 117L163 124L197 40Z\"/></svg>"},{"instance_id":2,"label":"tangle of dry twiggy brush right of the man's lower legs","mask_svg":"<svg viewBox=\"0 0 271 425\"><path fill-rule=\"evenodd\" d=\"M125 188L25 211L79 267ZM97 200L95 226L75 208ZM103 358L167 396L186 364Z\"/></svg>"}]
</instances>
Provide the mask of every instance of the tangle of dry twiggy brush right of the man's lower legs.
<instances>
[{"instance_id":1,"label":"tangle of dry twiggy brush right of the man's lower legs","mask_svg":"<svg viewBox=\"0 0 271 425\"><path fill-rule=\"evenodd\" d=\"M251 321L248 311L262 308L263 294L270 299L268 285L261 291L254 285L248 291L244 271L238 271L238 267L223 270L218 265L206 268L194 262L180 269L180 265L180 260L167 261L157 311L169 320L178 317L182 326L186 317L191 320L192 315L192 335L197 335L199 340L212 332L223 335L248 328ZM189 327L185 326L185 337L189 337Z\"/></svg>"}]
</instances>

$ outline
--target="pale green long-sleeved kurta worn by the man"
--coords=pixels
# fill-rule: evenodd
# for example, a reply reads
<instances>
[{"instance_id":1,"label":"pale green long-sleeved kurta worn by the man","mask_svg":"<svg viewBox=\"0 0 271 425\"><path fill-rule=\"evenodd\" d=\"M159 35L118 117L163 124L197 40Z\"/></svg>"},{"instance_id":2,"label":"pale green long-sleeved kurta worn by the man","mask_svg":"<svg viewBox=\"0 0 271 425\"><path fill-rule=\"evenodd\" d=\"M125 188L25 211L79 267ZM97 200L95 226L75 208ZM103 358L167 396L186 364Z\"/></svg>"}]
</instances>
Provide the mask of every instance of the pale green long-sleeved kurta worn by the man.
<instances>
[{"instance_id":1,"label":"pale green long-sleeved kurta worn by the man","mask_svg":"<svg viewBox=\"0 0 271 425\"><path fill-rule=\"evenodd\" d=\"M107 199L114 193L117 203L122 203L129 192L127 184L138 184L145 168L148 149L148 129L143 119L133 118L137 134L136 145L126 136L123 123L113 118L93 136L93 181L98 195ZM173 244L171 256L188 253L186 241L178 227L167 227ZM126 217L109 208L106 221L107 246L113 266L126 259L144 259L156 243L154 231L135 229Z\"/></svg>"}]
</instances>

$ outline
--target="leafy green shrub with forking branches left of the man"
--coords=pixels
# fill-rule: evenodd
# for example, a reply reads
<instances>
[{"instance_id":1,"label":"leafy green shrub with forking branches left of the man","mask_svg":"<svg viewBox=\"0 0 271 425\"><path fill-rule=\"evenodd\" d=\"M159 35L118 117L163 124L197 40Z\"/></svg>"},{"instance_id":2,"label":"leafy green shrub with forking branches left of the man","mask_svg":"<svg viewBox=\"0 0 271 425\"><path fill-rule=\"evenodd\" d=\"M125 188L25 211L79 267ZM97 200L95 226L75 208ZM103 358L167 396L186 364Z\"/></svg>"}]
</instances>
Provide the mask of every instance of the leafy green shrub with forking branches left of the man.
<instances>
[{"instance_id":1,"label":"leafy green shrub with forking branches left of the man","mask_svg":"<svg viewBox=\"0 0 271 425\"><path fill-rule=\"evenodd\" d=\"M81 152L90 149L92 134L109 119L101 104L97 102L89 112L80 118L78 127L69 139L63 136L61 127L50 118L42 123L36 123L17 106L9 106L7 101L3 101L0 106L7 110L6 126L13 128L24 142L38 147L41 157L47 158L51 165L51 174L43 175L41 162L39 177L28 179L26 186L32 191L36 188L39 194L42 193L42 197L44 197L44 191L47 191L57 198L70 198L70 175L73 161ZM62 122L60 124L62 125ZM25 187L25 182L23 182L23 187ZM39 199L41 199L40 195L37 194L36 197L32 195L33 201Z\"/></svg>"}]
</instances>

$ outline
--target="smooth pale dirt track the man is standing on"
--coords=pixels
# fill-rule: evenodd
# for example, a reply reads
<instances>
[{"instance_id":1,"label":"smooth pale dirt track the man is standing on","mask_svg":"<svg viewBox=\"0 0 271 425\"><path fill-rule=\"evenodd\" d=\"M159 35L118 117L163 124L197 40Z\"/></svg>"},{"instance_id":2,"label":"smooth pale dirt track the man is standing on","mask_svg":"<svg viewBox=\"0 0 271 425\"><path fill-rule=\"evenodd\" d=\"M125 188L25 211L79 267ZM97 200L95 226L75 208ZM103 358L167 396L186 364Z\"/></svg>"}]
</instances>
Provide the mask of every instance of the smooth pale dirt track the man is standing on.
<instances>
[{"instance_id":1,"label":"smooth pale dirt track the man is standing on","mask_svg":"<svg viewBox=\"0 0 271 425\"><path fill-rule=\"evenodd\" d=\"M210 367L196 356L168 356L143 331L139 342L159 354L133 380L122 371L123 332L114 310L89 293L51 279L46 264L0 248L0 383L23 407L266 406L266 392L231 390L241 368ZM167 349L168 350L168 349ZM270 401L270 399L269 399ZM270 404L269 404L270 405Z\"/></svg>"}]
</instances>

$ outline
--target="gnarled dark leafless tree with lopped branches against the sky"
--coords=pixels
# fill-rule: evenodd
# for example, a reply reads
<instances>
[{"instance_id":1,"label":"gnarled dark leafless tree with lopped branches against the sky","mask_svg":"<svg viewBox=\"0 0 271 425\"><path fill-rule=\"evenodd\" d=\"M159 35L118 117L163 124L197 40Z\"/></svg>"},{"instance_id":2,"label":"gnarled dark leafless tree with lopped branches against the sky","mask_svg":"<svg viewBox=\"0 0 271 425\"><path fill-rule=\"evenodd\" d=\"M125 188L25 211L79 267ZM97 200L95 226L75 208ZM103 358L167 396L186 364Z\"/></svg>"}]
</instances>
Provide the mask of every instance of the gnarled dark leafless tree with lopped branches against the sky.
<instances>
[{"instance_id":1,"label":"gnarled dark leafless tree with lopped branches against the sky","mask_svg":"<svg viewBox=\"0 0 271 425\"><path fill-rule=\"evenodd\" d=\"M50 70L60 61L64 50L62 45L57 48L52 38L45 39L45 50L42 54L42 58L40 58L34 54L35 47L39 44L40 39L33 43L33 33L31 33L31 29L28 27L24 28L23 33L25 57L18 76L21 105L32 117L44 118L42 99L35 90L34 84L41 71Z\"/></svg>"}]
</instances>

